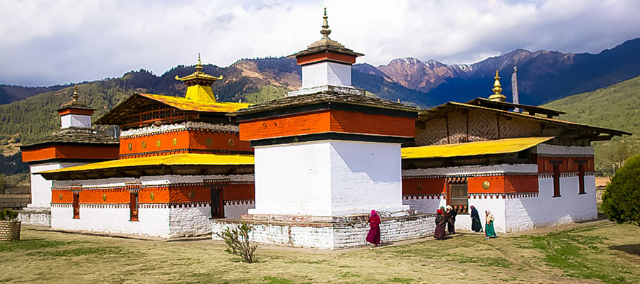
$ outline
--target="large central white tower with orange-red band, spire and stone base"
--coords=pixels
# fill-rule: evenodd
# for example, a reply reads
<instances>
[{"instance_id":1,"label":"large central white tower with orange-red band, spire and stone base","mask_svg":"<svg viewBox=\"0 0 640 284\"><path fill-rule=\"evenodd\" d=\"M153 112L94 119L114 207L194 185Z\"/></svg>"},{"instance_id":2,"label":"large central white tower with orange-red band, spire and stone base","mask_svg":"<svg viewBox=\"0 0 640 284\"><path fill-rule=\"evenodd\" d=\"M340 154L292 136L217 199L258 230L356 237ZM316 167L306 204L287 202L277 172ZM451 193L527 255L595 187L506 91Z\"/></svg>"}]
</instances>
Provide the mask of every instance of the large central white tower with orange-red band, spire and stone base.
<instances>
[{"instance_id":1,"label":"large central white tower with orange-red band, spire and stone base","mask_svg":"<svg viewBox=\"0 0 640 284\"><path fill-rule=\"evenodd\" d=\"M366 244L367 214L385 218L383 241L432 234L434 217L402 204L402 143L415 136L415 107L366 97L351 86L361 53L322 38L294 56L302 88L235 112L255 148L255 209L213 221L216 232L251 223L263 244L343 249Z\"/></svg>"}]
</instances>

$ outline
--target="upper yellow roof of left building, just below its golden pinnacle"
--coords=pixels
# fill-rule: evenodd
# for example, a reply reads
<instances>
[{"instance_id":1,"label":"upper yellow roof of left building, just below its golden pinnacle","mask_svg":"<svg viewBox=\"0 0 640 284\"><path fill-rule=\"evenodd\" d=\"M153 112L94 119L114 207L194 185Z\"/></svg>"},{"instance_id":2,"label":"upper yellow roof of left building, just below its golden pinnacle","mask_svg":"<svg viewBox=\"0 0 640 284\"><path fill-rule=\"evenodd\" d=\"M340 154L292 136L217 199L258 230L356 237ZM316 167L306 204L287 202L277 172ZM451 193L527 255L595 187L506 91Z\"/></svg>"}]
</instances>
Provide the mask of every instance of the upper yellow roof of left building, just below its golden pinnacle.
<instances>
[{"instance_id":1,"label":"upper yellow roof of left building, just below its golden pinnacle","mask_svg":"<svg viewBox=\"0 0 640 284\"><path fill-rule=\"evenodd\" d=\"M183 97L165 96L162 94L139 94L143 97L153 99L155 101L167 104L184 111L215 111L215 112L234 112L238 109L244 109L251 104L239 102L198 102Z\"/></svg>"}]
</instances>

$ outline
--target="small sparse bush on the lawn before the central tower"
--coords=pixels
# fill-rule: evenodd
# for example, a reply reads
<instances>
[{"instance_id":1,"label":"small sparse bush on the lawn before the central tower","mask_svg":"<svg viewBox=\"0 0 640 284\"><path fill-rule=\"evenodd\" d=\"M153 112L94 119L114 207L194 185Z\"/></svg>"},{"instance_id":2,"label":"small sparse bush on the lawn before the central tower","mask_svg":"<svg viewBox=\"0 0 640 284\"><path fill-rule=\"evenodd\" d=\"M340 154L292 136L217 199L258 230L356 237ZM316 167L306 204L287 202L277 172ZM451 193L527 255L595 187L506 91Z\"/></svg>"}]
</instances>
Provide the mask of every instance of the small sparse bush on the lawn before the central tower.
<instances>
[{"instance_id":1,"label":"small sparse bush on the lawn before the central tower","mask_svg":"<svg viewBox=\"0 0 640 284\"><path fill-rule=\"evenodd\" d=\"M227 244L225 248L226 253L241 256L246 263L252 263L255 261L257 244L252 244L249 241L251 229L253 229L253 226L245 223L215 234L222 238L225 244Z\"/></svg>"}]
</instances>

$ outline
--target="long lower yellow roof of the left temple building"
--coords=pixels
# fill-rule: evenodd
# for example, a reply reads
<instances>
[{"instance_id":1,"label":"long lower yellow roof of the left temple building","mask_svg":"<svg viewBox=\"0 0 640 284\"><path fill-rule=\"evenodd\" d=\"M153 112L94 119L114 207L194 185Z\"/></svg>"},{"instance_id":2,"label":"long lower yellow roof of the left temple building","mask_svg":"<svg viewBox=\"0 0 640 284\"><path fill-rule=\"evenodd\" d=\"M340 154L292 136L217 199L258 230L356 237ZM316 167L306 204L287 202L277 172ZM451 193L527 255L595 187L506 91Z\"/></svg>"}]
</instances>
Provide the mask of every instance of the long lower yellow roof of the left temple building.
<instances>
[{"instance_id":1,"label":"long lower yellow roof of the left temple building","mask_svg":"<svg viewBox=\"0 0 640 284\"><path fill-rule=\"evenodd\" d=\"M146 165L253 165L253 155L217 155L182 153L155 157L107 160L75 167L46 170L40 173L69 173L86 170L141 167Z\"/></svg>"}]
</instances>

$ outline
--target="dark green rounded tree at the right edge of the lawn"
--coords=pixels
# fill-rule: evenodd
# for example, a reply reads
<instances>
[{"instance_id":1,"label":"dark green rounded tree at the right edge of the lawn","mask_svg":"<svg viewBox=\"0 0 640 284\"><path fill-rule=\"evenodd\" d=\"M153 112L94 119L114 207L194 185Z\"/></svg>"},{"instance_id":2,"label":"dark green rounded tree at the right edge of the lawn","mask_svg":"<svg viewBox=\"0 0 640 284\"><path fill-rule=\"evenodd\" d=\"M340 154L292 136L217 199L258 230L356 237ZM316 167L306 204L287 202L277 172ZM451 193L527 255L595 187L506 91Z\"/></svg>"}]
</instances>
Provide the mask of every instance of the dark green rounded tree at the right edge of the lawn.
<instances>
[{"instance_id":1,"label":"dark green rounded tree at the right edge of the lawn","mask_svg":"<svg viewBox=\"0 0 640 284\"><path fill-rule=\"evenodd\" d=\"M631 223L640 229L640 154L617 170L602 195L602 210L609 220Z\"/></svg>"}]
</instances>

